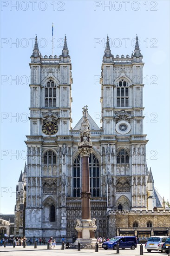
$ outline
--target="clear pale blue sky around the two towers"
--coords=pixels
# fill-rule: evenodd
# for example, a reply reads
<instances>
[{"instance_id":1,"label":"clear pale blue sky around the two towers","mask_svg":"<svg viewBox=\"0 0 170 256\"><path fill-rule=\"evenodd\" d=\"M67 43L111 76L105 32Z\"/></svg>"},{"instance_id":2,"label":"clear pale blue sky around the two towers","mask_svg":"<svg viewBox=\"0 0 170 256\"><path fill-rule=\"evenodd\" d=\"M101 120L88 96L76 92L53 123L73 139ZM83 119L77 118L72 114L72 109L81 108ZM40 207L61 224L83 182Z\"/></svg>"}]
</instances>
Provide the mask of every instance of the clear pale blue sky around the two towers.
<instances>
[{"instance_id":1,"label":"clear pale blue sky around the two towers","mask_svg":"<svg viewBox=\"0 0 170 256\"><path fill-rule=\"evenodd\" d=\"M136 34L144 58L144 134L155 187L170 201L170 1L1 0L0 212L14 214L16 184L26 161L29 135L30 56L38 36L41 54L62 53L64 36L72 61L72 127L88 105L100 127L99 76L107 34L111 53L129 54ZM15 79L15 81L14 81Z\"/></svg>"}]
</instances>

